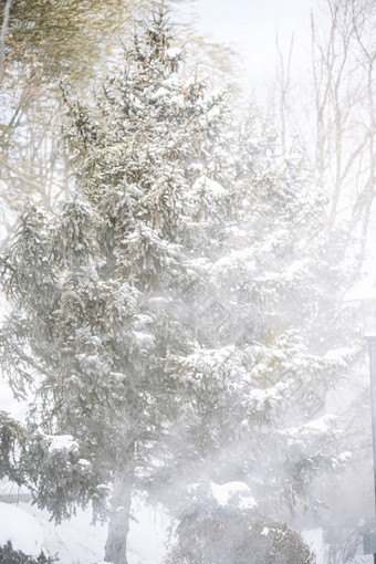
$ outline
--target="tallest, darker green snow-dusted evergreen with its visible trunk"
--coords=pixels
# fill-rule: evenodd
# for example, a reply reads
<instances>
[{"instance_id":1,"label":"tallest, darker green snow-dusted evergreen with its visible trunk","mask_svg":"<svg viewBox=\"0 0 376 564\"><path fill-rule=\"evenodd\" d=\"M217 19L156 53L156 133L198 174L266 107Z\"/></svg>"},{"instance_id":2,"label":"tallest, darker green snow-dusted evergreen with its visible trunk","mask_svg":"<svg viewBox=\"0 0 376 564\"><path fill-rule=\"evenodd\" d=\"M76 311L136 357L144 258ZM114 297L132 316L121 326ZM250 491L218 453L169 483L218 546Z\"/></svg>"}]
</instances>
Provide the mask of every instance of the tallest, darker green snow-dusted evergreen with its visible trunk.
<instances>
[{"instance_id":1,"label":"tallest, darker green snow-dusted evergreen with its visible trunk","mask_svg":"<svg viewBox=\"0 0 376 564\"><path fill-rule=\"evenodd\" d=\"M60 213L27 210L1 262L13 303L3 369L33 395L19 473L58 521L90 501L105 518L111 494L114 564L126 563L134 483L153 476L180 408L166 358L197 342L189 261L221 247L223 215L208 209L223 175L221 100L178 76L180 56L156 13L90 106L63 88L76 192Z\"/></svg>"}]
</instances>

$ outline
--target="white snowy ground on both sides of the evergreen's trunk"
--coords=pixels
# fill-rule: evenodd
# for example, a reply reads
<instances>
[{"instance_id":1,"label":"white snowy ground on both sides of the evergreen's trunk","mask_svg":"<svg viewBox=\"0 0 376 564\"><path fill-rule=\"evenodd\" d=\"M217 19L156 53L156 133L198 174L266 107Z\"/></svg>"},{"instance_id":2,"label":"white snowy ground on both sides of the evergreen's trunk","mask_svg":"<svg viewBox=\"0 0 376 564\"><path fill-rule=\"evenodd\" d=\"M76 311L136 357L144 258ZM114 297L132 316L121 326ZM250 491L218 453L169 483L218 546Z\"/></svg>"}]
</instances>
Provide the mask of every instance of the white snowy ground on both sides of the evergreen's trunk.
<instances>
[{"instance_id":1,"label":"white snowy ground on both sides of the evergreen's trunk","mask_svg":"<svg viewBox=\"0 0 376 564\"><path fill-rule=\"evenodd\" d=\"M133 502L129 564L159 564L166 554L167 515L147 506L140 498ZM0 544L12 541L15 550L38 555L42 546L59 555L60 564L97 564L103 561L106 525L91 525L91 512L79 511L71 521L55 525L46 511L30 503L18 506L0 503Z\"/></svg>"}]
</instances>

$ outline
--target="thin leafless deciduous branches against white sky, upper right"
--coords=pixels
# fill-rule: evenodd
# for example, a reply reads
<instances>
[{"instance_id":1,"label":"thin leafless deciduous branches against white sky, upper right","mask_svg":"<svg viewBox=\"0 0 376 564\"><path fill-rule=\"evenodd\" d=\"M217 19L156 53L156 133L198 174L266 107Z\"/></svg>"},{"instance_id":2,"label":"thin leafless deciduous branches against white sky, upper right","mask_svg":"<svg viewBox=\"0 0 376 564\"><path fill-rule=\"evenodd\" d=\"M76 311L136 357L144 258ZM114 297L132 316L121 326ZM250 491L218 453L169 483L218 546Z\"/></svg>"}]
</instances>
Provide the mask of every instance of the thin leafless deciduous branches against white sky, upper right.
<instances>
[{"instance_id":1,"label":"thin leafless deciduous branches against white sky, upper right","mask_svg":"<svg viewBox=\"0 0 376 564\"><path fill-rule=\"evenodd\" d=\"M300 138L312 177L327 196L326 224L351 221L363 255L375 181L376 7L369 0L322 6L320 15L311 14L312 80L300 96L304 105L288 102L291 71L279 50L278 127L283 152L286 138Z\"/></svg>"}]
</instances>

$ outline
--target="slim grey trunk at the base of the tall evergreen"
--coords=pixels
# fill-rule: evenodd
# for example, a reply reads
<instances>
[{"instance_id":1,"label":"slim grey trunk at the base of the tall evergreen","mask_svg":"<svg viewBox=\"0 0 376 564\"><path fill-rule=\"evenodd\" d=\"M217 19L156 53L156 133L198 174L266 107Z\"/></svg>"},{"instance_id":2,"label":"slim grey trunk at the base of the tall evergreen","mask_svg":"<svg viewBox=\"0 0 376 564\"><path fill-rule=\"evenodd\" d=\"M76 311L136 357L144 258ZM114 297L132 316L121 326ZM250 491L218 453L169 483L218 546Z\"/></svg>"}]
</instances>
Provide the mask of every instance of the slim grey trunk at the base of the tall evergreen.
<instances>
[{"instance_id":1,"label":"slim grey trunk at the base of the tall evergreen","mask_svg":"<svg viewBox=\"0 0 376 564\"><path fill-rule=\"evenodd\" d=\"M129 531L129 514L132 502L132 487L134 463L130 460L122 470L117 470L114 480L114 491L111 501L111 518L105 547L105 562L127 564L127 536Z\"/></svg>"}]
</instances>

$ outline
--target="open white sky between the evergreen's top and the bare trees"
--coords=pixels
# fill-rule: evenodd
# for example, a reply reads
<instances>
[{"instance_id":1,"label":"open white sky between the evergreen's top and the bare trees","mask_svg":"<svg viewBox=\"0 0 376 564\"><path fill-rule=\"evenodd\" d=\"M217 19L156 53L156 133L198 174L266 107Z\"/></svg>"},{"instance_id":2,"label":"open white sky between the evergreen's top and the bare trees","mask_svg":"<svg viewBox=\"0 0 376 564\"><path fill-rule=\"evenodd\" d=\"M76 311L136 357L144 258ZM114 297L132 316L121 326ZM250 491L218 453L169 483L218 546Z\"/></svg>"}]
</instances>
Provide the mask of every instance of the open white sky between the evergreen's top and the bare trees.
<instances>
[{"instance_id":1,"label":"open white sky between the evergreen's top and the bare trees","mask_svg":"<svg viewBox=\"0 0 376 564\"><path fill-rule=\"evenodd\" d=\"M294 33L293 64L302 64L310 48L310 13L315 0L192 0L181 4L197 29L242 54L248 80L275 65L275 38L284 52Z\"/></svg>"}]
</instances>

